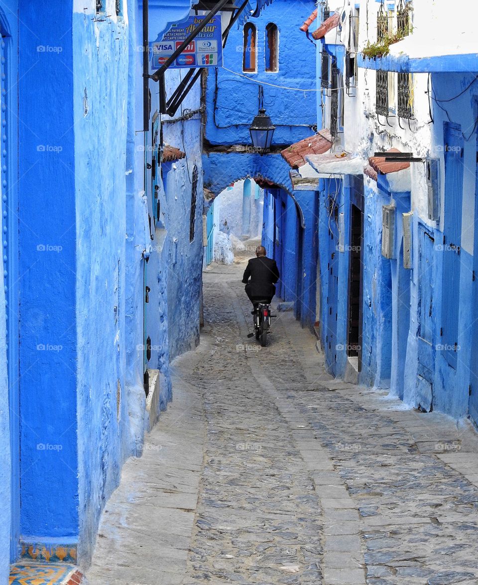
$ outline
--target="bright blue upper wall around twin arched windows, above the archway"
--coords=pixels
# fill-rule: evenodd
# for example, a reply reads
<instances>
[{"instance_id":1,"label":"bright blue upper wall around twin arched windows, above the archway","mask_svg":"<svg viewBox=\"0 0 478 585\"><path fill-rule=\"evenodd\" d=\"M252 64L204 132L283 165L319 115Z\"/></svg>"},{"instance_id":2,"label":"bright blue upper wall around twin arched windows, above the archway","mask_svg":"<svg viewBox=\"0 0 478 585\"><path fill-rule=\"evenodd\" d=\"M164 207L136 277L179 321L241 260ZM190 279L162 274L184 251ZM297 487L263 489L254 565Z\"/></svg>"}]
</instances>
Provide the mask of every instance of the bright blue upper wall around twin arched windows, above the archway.
<instances>
[{"instance_id":1,"label":"bright blue upper wall around twin arched windows, above the archway","mask_svg":"<svg viewBox=\"0 0 478 585\"><path fill-rule=\"evenodd\" d=\"M299 30L313 11L313 2L294 5L274 0L258 18L250 19L257 27L257 73L247 79L224 68L211 69L207 77L206 139L213 144L250 144L249 126L257 114L258 84L315 90L315 46ZM291 19L291 16L293 17ZM279 69L265 72L265 27L274 22L279 29ZM296 24L296 26L294 26ZM224 50L224 67L243 74L243 28L234 27ZM292 144L310 136L316 123L315 91L289 91L264 85L264 107L276 126L275 144Z\"/></svg>"}]
</instances>

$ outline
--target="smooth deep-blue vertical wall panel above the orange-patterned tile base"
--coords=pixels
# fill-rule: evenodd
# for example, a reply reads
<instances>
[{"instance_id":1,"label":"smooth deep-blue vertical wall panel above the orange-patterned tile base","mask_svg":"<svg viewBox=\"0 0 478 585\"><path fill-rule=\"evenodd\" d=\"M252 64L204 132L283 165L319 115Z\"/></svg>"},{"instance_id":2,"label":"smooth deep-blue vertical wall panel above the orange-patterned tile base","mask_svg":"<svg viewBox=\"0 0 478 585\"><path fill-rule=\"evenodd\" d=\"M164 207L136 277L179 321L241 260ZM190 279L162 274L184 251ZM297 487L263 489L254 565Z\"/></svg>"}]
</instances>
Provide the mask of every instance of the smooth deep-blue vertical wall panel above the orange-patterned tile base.
<instances>
[{"instance_id":1,"label":"smooth deep-blue vertical wall panel above the orange-patterned tile base","mask_svg":"<svg viewBox=\"0 0 478 585\"><path fill-rule=\"evenodd\" d=\"M23 539L77 541L78 185L73 39L64 34L72 5L19 7L21 532ZM39 53L40 43L61 51Z\"/></svg>"}]
</instances>

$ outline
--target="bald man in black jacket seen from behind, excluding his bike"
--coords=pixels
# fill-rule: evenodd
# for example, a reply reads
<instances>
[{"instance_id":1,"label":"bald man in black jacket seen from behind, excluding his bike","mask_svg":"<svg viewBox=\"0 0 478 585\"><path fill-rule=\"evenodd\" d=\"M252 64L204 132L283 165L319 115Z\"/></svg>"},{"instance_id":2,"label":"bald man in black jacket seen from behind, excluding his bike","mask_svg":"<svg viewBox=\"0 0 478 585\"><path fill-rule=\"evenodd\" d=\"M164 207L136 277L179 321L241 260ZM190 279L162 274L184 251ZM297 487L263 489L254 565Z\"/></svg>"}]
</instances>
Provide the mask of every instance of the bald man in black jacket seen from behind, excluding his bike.
<instances>
[{"instance_id":1,"label":"bald man in black jacket seen from behind, excluding his bike","mask_svg":"<svg viewBox=\"0 0 478 585\"><path fill-rule=\"evenodd\" d=\"M271 304L275 295L275 283L280 274L275 260L265 255L265 247L257 246L255 249L257 258L249 260L244 270L243 283L249 300L257 307L258 301L267 301Z\"/></svg>"}]
</instances>

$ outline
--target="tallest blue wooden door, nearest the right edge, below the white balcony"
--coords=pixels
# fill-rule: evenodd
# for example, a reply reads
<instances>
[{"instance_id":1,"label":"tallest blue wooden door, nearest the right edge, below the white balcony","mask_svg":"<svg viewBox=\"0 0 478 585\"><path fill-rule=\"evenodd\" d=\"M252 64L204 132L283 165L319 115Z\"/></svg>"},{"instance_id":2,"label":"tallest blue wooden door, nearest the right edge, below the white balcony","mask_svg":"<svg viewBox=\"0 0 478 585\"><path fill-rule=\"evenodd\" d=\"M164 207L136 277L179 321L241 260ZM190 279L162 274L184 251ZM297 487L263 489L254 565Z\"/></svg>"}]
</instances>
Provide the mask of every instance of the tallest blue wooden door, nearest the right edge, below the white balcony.
<instances>
[{"instance_id":1,"label":"tallest blue wooden door, nearest the right edge, below the white balcony","mask_svg":"<svg viewBox=\"0 0 478 585\"><path fill-rule=\"evenodd\" d=\"M460 292L460 245L463 199L463 135L459 126L445 126L445 226L443 229L442 353L456 369Z\"/></svg>"}]
</instances>

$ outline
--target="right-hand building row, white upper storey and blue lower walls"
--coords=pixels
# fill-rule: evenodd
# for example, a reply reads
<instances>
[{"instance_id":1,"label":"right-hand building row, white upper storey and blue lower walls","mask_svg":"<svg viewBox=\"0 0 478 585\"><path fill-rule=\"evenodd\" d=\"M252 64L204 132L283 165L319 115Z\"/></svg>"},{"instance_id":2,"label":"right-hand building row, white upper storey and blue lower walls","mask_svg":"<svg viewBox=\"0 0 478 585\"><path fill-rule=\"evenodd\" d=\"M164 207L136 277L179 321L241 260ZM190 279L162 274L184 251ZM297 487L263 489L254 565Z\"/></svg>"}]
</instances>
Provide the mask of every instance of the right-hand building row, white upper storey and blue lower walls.
<instances>
[{"instance_id":1,"label":"right-hand building row, white upper storey and blue lower walls","mask_svg":"<svg viewBox=\"0 0 478 585\"><path fill-rule=\"evenodd\" d=\"M319 6L303 30L317 43L317 127L330 144L317 152L311 140L285 151L311 242L302 249L309 268L304 260L289 266L304 283L309 273L315 291L315 302L302 302L302 322L314 326L335 376L476 423L472 31L464 23L459 40L433 43L428 20L447 18L438 5L329 6ZM397 30L404 40L388 56L363 54ZM299 151L298 162L291 152ZM295 247L297 238L287 223L278 225L274 205L265 201L271 253ZM284 198L278 205L282 222L288 207Z\"/></svg>"}]
</instances>

